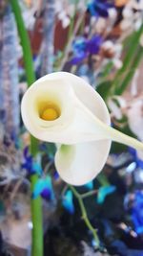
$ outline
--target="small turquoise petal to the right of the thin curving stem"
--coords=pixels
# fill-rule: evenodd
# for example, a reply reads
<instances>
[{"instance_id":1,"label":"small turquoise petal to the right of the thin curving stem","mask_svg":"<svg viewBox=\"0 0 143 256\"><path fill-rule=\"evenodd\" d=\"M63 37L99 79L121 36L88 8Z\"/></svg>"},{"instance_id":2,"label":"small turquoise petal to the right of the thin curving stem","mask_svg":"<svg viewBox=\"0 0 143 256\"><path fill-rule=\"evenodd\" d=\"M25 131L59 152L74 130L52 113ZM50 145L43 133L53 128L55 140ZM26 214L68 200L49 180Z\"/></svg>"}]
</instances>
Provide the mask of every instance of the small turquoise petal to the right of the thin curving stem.
<instances>
[{"instance_id":1,"label":"small turquoise petal to the right of the thin curving stem","mask_svg":"<svg viewBox=\"0 0 143 256\"><path fill-rule=\"evenodd\" d=\"M97 203L101 204L104 202L105 198L112 194L116 190L115 186L104 186L99 188L97 194Z\"/></svg>"}]
</instances>

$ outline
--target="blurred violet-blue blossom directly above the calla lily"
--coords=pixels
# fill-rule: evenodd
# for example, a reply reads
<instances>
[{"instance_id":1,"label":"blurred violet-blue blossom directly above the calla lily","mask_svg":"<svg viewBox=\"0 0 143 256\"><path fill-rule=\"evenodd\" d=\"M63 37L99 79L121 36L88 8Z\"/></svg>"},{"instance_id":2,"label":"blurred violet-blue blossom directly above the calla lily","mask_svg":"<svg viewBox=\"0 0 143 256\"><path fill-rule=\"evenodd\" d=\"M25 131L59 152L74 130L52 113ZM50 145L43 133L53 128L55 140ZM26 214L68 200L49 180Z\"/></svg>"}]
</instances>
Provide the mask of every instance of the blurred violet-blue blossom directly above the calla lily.
<instances>
[{"instance_id":1,"label":"blurred violet-blue blossom directly above the calla lily","mask_svg":"<svg viewBox=\"0 0 143 256\"><path fill-rule=\"evenodd\" d=\"M100 46L103 43L101 35L93 35L91 39L78 37L72 44L73 58L70 64L76 65L82 62L89 55L96 55L100 51Z\"/></svg>"}]
</instances>

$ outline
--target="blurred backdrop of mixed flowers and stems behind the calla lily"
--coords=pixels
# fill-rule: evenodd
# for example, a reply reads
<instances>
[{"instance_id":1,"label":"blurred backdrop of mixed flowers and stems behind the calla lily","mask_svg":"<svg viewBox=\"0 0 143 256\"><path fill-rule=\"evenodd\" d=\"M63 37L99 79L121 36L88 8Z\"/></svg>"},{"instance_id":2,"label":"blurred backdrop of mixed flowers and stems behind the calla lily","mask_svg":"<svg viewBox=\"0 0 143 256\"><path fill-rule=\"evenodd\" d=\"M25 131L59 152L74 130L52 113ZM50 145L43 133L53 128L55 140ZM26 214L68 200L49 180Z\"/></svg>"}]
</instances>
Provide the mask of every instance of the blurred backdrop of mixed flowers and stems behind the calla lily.
<instances>
[{"instance_id":1,"label":"blurred backdrop of mixed flowers and stems behind the calla lily","mask_svg":"<svg viewBox=\"0 0 143 256\"><path fill-rule=\"evenodd\" d=\"M0 0L0 255L31 255L36 170L45 255L143 256L143 152L112 143L101 174L73 188L53 144L31 156L20 116L27 87L64 70L101 95L112 127L143 141L142 57L142 0Z\"/></svg>"}]
</instances>

